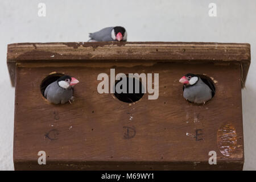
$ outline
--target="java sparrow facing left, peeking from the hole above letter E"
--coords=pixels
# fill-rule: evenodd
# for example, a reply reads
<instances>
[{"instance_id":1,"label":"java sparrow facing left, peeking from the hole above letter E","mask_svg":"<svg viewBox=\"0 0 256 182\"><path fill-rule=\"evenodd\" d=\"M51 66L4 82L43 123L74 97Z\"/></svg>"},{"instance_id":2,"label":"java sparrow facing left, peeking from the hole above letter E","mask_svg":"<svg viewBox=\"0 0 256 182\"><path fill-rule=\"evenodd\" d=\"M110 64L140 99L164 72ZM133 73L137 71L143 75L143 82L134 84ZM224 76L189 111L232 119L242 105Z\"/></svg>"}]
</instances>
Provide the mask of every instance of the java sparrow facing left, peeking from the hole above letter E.
<instances>
[{"instance_id":1,"label":"java sparrow facing left, peeking from the hole above letter E","mask_svg":"<svg viewBox=\"0 0 256 182\"><path fill-rule=\"evenodd\" d=\"M207 79L201 79L198 75L188 73L181 77L179 82L183 84L183 97L185 100L196 104L205 104L214 96L215 88L212 82Z\"/></svg>"}]
</instances>

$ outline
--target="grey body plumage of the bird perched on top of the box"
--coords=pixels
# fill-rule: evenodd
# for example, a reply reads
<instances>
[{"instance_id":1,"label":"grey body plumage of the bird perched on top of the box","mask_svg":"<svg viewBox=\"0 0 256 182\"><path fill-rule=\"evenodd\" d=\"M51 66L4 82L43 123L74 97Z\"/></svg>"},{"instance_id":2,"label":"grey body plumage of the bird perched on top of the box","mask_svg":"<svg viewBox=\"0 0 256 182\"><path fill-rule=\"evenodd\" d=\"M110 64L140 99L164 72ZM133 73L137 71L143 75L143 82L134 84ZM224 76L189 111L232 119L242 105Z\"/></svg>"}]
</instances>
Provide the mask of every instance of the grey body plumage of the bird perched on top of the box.
<instances>
[{"instance_id":1,"label":"grey body plumage of the bird perched on top of the box","mask_svg":"<svg viewBox=\"0 0 256 182\"><path fill-rule=\"evenodd\" d=\"M102 41L115 41L112 39L111 37L111 31L113 30L114 27L106 27L106 28L103 28L101 29L100 31L97 31L97 32L94 32L94 33L91 33L89 35L90 37L90 40L94 40L94 41L97 41L97 42L102 42ZM89 40L89 41L90 41Z\"/></svg>"}]
</instances>

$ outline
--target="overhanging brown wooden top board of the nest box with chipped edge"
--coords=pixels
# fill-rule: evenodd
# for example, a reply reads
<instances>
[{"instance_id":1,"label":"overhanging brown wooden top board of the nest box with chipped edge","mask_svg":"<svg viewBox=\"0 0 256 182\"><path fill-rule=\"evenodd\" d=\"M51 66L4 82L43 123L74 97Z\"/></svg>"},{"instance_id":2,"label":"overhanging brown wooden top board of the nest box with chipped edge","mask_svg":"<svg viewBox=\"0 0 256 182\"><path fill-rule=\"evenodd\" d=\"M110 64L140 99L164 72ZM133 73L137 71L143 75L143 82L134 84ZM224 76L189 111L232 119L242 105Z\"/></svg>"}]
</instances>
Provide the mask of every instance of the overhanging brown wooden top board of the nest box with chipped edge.
<instances>
[{"instance_id":1,"label":"overhanging brown wooden top board of the nest box with chipped edge","mask_svg":"<svg viewBox=\"0 0 256 182\"><path fill-rule=\"evenodd\" d=\"M14 43L7 48L7 65L15 85L16 63L84 61L157 61L176 63L238 63L242 87L250 67L248 43L201 42L69 42ZM42 64L43 66L43 64Z\"/></svg>"}]
</instances>

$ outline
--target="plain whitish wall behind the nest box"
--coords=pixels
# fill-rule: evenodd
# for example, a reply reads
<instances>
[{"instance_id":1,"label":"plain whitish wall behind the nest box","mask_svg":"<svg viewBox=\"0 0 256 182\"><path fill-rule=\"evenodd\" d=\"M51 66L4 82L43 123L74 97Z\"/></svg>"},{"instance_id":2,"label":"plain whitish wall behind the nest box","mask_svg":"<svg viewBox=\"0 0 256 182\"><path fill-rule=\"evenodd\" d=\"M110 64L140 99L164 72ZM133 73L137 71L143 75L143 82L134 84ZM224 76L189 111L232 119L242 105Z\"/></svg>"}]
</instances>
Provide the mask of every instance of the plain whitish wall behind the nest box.
<instances>
[{"instance_id":1,"label":"plain whitish wall behind the nest box","mask_svg":"<svg viewBox=\"0 0 256 182\"><path fill-rule=\"evenodd\" d=\"M46 3L46 17L38 3ZM217 17L209 17L209 3ZM86 42L88 33L124 26L129 41L236 42L251 44L242 90L245 166L256 169L256 1L254 0L0 0L0 170L13 170L14 92L6 66L7 44Z\"/></svg>"}]
</instances>

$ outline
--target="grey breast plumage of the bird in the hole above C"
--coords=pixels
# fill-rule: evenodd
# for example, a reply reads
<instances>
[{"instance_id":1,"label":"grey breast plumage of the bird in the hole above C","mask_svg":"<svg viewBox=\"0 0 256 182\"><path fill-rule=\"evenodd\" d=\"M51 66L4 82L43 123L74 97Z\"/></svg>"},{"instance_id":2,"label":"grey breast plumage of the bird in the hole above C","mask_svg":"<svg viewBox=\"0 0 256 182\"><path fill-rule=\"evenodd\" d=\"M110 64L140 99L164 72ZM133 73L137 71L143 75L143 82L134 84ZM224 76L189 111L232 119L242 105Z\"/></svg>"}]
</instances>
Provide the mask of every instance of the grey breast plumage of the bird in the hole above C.
<instances>
[{"instance_id":1,"label":"grey breast plumage of the bird in the hole above C","mask_svg":"<svg viewBox=\"0 0 256 182\"><path fill-rule=\"evenodd\" d=\"M65 104L72 99L73 89L64 89L59 86L58 82L52 82L44 90L44 97L47 98L53 104Z\"/></svg>"}]
</instances>

